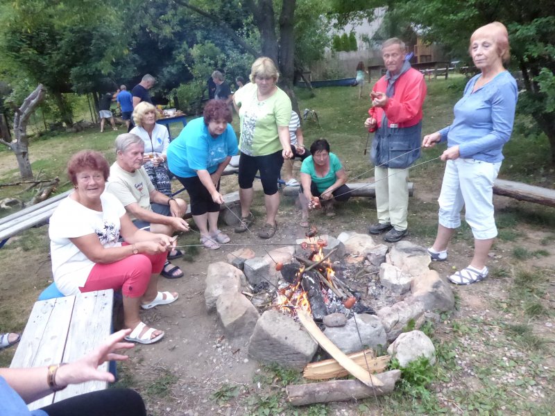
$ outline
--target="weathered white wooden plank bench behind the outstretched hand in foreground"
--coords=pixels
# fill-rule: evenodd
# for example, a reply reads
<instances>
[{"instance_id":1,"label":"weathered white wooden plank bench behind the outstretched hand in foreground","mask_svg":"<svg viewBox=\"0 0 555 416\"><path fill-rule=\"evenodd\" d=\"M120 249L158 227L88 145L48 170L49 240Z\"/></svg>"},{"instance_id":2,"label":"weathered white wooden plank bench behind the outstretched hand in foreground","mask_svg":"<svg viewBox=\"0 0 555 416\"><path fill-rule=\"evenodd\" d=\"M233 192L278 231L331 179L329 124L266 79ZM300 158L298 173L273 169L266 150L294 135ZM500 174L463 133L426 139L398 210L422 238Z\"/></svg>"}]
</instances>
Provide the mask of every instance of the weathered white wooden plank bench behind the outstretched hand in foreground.
<instances>
[{"instance_id":1,"label":"weathered white wooden plank bench behind the outstretched hand in foreground","mask_svg":"<svg viewBox=\"0 0 555 416\"><path fill-rule=\"evenodd\" d=\"M110 335L114 291L82 293L35 303L10 367L69 363L82 358ZM108 363L99 367L108 371ZM69 385L28 405L29 410L108 387L105 381Z\"/></svg>"}]
</instances>

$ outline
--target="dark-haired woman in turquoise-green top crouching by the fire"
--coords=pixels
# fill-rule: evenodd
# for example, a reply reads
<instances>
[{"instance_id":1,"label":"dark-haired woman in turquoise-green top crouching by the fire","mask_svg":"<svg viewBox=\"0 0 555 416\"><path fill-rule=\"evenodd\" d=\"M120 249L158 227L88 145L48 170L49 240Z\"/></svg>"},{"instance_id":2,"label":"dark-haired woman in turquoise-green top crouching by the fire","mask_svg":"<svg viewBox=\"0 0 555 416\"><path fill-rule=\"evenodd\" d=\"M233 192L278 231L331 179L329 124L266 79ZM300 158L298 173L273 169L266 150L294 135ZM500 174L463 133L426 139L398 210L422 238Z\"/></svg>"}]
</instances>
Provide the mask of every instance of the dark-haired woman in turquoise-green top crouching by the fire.
<instances>
[{"instance_id":1,"label":"dark-haired woman in turquoise-green top crouching by the fire","mask_svg":"<svg viewBox=\"0 0 555 416\"><path fill-rule=\"evenodd\" d=\"M330 153L330 144L318 139L310 145L311 156L300 166L300 202L302 205L302 227L308 227L307 209L320 207L327 216L334 216L334 201L345 202L351 196L347 173L339 157Z\"/></svg>"}]
</instances>

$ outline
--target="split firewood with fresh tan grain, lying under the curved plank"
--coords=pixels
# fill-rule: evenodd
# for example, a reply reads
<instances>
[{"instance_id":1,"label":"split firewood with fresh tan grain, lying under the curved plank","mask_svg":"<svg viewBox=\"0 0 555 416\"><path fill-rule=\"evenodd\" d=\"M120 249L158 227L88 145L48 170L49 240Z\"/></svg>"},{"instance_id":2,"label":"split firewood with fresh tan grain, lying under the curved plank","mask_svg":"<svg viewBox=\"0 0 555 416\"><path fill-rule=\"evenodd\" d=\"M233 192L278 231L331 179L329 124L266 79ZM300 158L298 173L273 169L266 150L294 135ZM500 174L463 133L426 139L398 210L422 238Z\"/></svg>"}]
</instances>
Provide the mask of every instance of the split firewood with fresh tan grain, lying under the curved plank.
<instances>
[{"instance_id":1,"label":"split firewood with fresh tan grain, lying under the curved plank","mask_svg":"<svg viewBox=\"0 0 555 416\"><path fill-rule=\"evenodd\" d=\"M364 359L364 353L366 353L366 360ZM349 354L348 357L362 368L366 368L366 370L369 368L371 373L384 372L389 361L391 361L391 356L373 358L373 351L371 349L354 352ZM368 367L366 367L366 363L368 363ZM333 358L318 361L317 363L309 363L302 372L302 376L308 380L328 380L348 375L349 372L341 367Z\"/></svg>"}]
</instances>

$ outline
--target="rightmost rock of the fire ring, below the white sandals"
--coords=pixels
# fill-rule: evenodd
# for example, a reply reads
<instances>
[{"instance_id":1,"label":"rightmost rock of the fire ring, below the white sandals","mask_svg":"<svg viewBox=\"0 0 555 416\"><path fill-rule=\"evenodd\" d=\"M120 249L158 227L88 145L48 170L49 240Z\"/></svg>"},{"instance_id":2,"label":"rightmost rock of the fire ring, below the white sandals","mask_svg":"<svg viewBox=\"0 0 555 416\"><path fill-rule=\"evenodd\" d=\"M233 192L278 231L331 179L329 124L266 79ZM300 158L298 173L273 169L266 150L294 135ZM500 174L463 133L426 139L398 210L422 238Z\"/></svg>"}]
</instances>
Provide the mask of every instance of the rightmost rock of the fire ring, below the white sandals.
<instances>
[{"instance_id":1,"label":"rightmost rock of the fire ring, below the white sandals","mask_svg":"<svg viewBox=\"0 0 555 416\"><path fill-rule=\"evenodd\" d=\"M451 286L439 277L436 270L428 270L412 279L411 293L427 311L451 311L455 306Z\"/></svg>"}]
</instances>

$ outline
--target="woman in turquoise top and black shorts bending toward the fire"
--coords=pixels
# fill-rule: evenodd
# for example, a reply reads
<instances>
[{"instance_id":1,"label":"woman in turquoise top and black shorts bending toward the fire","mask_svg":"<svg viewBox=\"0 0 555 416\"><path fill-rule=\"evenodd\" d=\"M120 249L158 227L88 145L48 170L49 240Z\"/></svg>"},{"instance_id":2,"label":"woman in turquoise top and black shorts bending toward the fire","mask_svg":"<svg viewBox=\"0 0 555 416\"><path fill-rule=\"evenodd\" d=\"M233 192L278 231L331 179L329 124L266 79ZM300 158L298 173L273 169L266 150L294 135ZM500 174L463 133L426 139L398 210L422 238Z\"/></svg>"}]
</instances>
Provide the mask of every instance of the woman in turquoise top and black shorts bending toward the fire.
<instances>
[{"instance_id":1,"label":"woman in turquoise top and black shorts bending toward the fire","mask_svg":"<svg viewBox=\"0 0 555 416\"><path fill-rule=\"evenodd\" d=\"M211 250L230 242L229 236L218 229L218 216L223 204L220 177L239 151L231 121L225 101L210 100L203 117L189 121L167 151L169 170L189 193L200 242Z\"/></svg>"}]
</instances>

